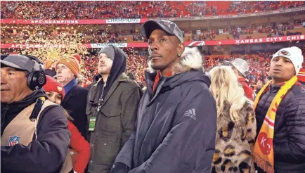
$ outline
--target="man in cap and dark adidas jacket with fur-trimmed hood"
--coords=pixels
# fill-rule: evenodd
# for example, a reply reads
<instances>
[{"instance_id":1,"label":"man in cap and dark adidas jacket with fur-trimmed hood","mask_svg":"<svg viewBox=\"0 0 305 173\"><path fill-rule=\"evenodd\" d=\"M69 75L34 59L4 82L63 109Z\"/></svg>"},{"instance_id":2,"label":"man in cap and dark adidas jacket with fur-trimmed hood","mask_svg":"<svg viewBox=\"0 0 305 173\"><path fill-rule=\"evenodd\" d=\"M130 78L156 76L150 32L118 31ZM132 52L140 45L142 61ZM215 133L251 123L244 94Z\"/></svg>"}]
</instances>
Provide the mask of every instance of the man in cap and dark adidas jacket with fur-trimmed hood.
<instances>
[{"instance_id":1,"label":"man in cap and dark adidas jacket with fur-trimmed hood","mask_svg":"<svg viewBox=\"0 0 305 173\"><path fill-rule=\"evenodd\" d=\"M216 103L197 48L185 48L170 21L148 21L150 72L138 107L136 132L120 151L112 172L211 172Z\"/></svg>"}]
</instances>

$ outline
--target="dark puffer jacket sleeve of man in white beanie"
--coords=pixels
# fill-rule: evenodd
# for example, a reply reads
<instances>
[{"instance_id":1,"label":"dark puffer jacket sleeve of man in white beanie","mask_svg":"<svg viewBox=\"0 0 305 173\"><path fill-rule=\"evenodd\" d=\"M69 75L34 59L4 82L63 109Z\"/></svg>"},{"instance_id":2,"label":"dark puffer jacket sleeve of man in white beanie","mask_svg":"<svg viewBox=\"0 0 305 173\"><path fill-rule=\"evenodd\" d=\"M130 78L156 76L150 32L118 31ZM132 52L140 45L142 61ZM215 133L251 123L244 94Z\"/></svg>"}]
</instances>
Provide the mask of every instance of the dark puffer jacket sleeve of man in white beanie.
<instances>
[{"instance_id":1,"label":"dark puffer jacket sleeve of man in white beanie","mask_svg":"<svg viewBox=\"0 0 305 173\"><path fill-rule=\"evenodd\" d=\"M274 158L282 162L304 163L305 160L305 94L300 92L285 106L287 141L274 141Z\"/></svg>"}]
</instances>

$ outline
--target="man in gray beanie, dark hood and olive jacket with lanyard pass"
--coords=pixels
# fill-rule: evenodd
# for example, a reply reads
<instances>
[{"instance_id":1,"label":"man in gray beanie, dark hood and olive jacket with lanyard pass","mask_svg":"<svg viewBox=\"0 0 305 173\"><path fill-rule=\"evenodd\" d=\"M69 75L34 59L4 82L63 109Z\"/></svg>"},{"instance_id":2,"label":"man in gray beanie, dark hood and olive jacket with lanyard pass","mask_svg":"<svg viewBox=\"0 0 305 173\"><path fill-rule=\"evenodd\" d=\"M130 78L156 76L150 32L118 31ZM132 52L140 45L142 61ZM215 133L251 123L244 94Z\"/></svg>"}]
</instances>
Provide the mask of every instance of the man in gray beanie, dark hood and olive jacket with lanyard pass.
<instances>
[{"instance_id":1,"label":"man in gray beanie, dark hood and olive jacket with lanyard pass","mask_svg":"<svg viewBox=\"0 0 305 173\"><path fill-rule=\"evenodd\" d=\"M142 90L125 74L126 54L115 46L98 53L98 75L89 87L86 115L91 146L89 172L108 173L134 132Z\"/></svg>"}]
</instances>

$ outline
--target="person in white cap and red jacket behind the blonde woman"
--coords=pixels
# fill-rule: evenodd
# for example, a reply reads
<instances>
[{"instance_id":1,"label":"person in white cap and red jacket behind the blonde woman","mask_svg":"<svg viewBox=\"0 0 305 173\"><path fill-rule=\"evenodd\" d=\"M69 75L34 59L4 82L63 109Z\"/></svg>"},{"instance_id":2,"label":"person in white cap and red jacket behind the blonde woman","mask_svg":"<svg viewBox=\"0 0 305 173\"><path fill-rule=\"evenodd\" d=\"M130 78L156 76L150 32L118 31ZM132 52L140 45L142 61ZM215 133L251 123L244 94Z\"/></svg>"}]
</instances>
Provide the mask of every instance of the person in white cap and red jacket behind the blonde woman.
<instances>
[{"instance_id":1,"label":"person in white cap and red jacket behind the blonde woman","mask_svg":"<svg viewBox=\"0 0 305 173\"><path fill-rule=\"evenodd\" d=\"M249 87L245 80L245 72L249 71L249 65L247 61L240 58L236 58L235 60L231 61L230 64L232 65L235 75L238 77L238 82L240 82L240 84L244 88L245 96L247 96L247 98L253 101L253 89Z\"/></svg>"}]
</instances>

